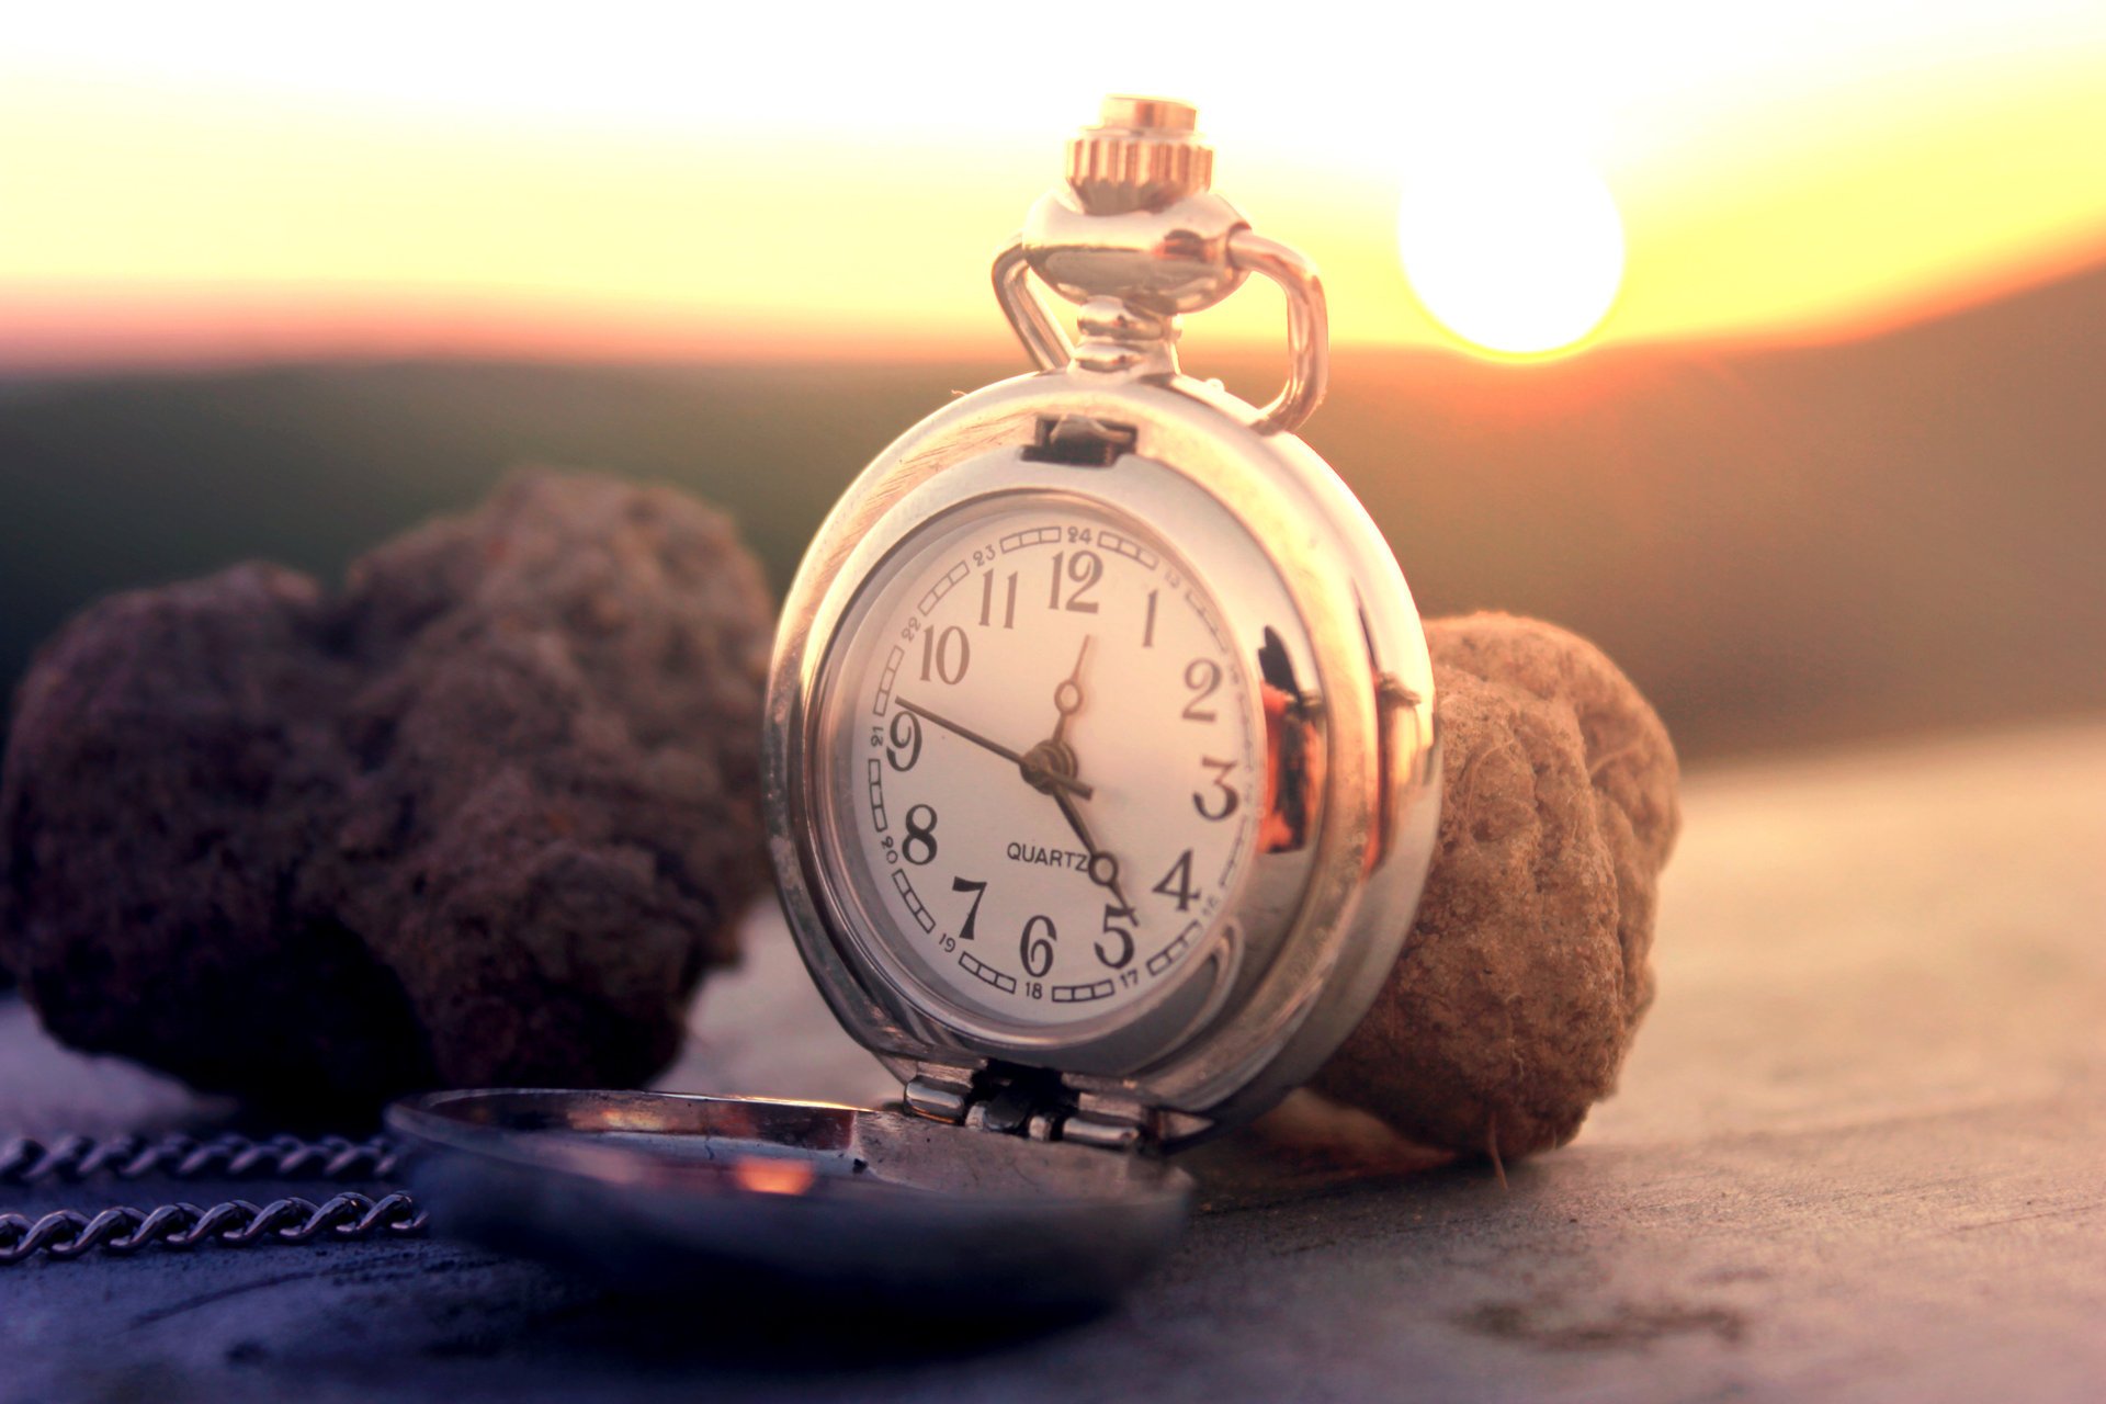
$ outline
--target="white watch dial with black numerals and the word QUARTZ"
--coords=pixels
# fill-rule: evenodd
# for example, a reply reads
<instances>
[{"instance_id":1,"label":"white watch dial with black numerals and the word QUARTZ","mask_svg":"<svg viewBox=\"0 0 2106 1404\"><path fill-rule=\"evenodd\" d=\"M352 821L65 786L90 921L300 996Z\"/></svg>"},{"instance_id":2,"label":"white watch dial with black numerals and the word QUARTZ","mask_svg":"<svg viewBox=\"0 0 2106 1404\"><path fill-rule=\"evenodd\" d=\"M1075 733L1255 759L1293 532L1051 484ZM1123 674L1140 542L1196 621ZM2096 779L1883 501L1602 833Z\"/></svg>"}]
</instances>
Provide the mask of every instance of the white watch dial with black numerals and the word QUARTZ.
<instances>
[{"instance_id":1,"label":"white watch dial with black numerals and the word QUARTZ","mask_svg":"<svg viewBox=\"0 0 2106 1404\"><path fill-rule=\"evenodd\" d=\"M842 619L817 850L853 937L939 1015L1099 1021L1173 987L1232 907L1266 808L1257 684L1165 535L984 499Z\"/></svg>"}]
</instances>

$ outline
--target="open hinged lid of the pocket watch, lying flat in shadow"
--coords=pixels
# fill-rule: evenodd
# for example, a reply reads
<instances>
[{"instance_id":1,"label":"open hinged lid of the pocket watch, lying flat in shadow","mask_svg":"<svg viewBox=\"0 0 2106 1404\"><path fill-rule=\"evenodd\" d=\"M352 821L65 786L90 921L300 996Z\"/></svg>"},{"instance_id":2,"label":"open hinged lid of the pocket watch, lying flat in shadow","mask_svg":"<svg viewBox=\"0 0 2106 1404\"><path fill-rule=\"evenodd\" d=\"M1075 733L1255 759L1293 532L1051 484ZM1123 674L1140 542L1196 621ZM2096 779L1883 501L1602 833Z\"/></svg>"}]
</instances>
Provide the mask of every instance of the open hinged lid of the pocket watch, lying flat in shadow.
<instances>
[{"instance_id":1,"label":"open hinged lid of the pocket watch, lying flat in shadow","mask_svg":"<svg viewBox=\"0 0 2106 1404\"><path fill-rule=\"evenodd\" d=\"M672 1092L430 1092L388 1109L449 1236L647 1292L1110 1301L1184 1229L1146 1156L903 1111Z\"/></svg>"}]
</instances>

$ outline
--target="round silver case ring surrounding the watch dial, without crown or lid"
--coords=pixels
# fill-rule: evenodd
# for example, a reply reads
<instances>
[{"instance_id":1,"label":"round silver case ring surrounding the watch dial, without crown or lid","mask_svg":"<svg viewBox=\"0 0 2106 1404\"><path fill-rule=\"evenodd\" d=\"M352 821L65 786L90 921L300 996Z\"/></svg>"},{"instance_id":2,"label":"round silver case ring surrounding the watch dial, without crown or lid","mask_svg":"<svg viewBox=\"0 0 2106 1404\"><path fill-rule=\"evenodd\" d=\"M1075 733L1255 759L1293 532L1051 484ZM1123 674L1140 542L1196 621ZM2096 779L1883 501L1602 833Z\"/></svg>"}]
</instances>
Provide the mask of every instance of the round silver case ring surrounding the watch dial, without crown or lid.
<instances>
[{"instance_id":1,"label":"round silver case ring surrounding the watch dial, without crown or lid","mask_svg":"<svg viewBox=\"0 0 2106 1404\"><path fill-rule=\"evenodd\" d=\"M1245 1122L1306 1082L1396 962L1432 859L1438 743L1426 636L1388 543L1302 440L1259 410L1158 370L1070 364L965 396L908 429L828 516L783 604L769 680L762 785L783 911L842 1027L908 1088L962 1118L1021 1069L1057 1076L1032 1135L1160 1149ZM1099 434L1101 463L1049 444ZM1110 1027L1019 1036L927 998L857 939L815 823L826 665L857 589L910 533L998 493L1059 493L1169 526L1259 669L1291 676L1306 758L1306 842L1253 855L1211 947ZM1179 541L1181 537L1181 541ZM1268 758L1276 762L1278 758ZM1030 1076L1030 1074L1026 1074Z\"/></svg>"}]
</instances>

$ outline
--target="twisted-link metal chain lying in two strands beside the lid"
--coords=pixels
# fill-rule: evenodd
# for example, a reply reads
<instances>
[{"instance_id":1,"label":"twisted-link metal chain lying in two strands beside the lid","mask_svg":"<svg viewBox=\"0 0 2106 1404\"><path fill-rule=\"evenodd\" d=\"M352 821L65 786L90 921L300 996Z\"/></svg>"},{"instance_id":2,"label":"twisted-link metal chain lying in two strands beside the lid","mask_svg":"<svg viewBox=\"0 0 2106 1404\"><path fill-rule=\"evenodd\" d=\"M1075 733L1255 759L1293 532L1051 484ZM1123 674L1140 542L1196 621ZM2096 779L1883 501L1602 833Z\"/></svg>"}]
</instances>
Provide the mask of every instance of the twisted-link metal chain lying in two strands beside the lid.
<instances>
[{"instance_id":1,"label":"twisted-link metal chain lying in two strands beside the lid","mask_svg":"<svg viewBox=\"0 0 2106 1404\"><path fill-rule=\"evenodd\" d=\"M27 1137L0 1141L0 1183L78 1183L95 1175L116 1179L354 1179L379 1181L394 1172L400 1149L381 1137L61 1137L48 1145ZM160 1204L150 1210L105 1208L82 1215L53 1210L36 1221L0 1215L0 1267L44 1255L72 1261L93 1248L135 1252L150 1244L196 1248L225 1244L305 1244L316 1238L350 1242L360 1238L413 1238L423 1233L425 1212L406 1194L369 1198L354 1191L322 1204L286 1198L257 1208L249 1200L225 1200L211 1208Z\"/></svg>"}]
</instances>

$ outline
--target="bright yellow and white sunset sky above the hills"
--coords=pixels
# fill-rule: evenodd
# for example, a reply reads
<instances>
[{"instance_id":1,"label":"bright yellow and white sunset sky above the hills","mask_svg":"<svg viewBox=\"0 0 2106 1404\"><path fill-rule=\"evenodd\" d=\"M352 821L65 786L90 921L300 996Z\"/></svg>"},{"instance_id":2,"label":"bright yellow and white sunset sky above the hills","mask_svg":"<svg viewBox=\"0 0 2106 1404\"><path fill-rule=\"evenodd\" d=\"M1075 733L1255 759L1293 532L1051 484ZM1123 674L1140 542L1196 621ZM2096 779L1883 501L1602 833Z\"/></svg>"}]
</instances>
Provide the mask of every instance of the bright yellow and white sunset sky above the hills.
<instances>
[{"instance_id":1,"label":"bright yellow and white sunset sky above the hills","mask_svg":"<svg viewBox=\"0 0 2106 1404\"><path fill-rule=\"evenodd\" d=\"M1607 179L1628 253L1598 341L1857 335L2106 257L2095 0L1310 4L1287 40L1259 38L1276 11L1192 36L1163 8L1099 57L1082 19L988 6L15 19L0 366L998 349L988 255L1135 88L1198 103L1217 183L1318 259L1342 343L1447 341L1396 202L1474 143ZM1278 318L1245 293L1190 337Z\"/></svg>"}]
</instances>

